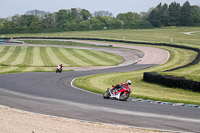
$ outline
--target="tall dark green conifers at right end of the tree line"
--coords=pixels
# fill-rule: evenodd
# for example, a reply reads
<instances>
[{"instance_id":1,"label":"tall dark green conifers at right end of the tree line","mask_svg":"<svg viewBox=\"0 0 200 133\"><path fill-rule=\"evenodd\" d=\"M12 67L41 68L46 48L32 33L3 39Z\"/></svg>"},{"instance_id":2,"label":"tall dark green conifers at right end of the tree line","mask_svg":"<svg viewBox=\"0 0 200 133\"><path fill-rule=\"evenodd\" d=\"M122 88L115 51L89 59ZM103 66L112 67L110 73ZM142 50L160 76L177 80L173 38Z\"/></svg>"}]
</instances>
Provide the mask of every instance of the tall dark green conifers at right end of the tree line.
<instances>
[{"instance_id":1,"label":"tall dark green conifers at right end of the tree line","mask_svg":"<svg viewBox=\"0 0 200 133\"><path fill-rule=\"evenodd\" d=\"M188 1L183 6L176 2L169 6L160 3L150 12L148 21L154 27L200 26L200 7L191 6Z\"/></svg>"}]
</instances>

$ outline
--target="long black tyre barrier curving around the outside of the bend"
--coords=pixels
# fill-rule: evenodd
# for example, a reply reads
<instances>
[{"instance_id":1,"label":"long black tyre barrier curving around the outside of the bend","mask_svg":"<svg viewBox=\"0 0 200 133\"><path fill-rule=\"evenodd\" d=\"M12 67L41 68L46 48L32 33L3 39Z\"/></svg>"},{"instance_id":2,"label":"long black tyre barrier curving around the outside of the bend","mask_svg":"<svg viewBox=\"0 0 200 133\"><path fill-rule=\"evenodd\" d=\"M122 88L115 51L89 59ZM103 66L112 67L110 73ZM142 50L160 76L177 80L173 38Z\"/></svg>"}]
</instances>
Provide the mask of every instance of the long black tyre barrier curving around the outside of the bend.
<instances>
[{"instance_id":1,"label":"long black tyre barrier curving around the outside of the bend","mask_svg":"<svg viewBox=\"0 0 200 133\"><path fill-rule=\"evenodd\" d=\"M4 39L9 39L9 38L4 38ZM198 64L200 61L200 49L188 47L188 46L175 45L175 44L135 42L135 41L103 39L103 38L79 38L79 37L15 37L15 39L76 39L76 40L110 41L110 42L145 44L145 45L154 45L154 46L155 45L168 46L168 47L182 48L182 49L188 49L188 50L193 50L193 51L198 52L197 57L191 63L189 63L185 66L176 67L176 68L166 70L166 71L173 71L173 70L177 70L180 68L189 67L191 65ZM143 75L143 80L146 82L161 84L161 85L165 85L168 87L177 87L177 88L188 89L188 90L200 92L200 82L187 80L183 77L161 75L161 74L158 74L155 72L145 72Z\"/></svg>"}]
</instances>

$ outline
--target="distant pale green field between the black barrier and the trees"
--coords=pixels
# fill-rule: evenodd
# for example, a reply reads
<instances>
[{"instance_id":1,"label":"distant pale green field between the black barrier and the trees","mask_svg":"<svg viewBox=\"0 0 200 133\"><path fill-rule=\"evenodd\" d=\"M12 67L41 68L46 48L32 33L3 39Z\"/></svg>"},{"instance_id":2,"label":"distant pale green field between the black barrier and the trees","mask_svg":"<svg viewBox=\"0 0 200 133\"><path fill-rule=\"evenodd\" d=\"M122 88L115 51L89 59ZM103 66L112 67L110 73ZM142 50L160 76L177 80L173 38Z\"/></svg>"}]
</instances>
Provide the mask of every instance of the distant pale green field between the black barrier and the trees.
<instances>
[{"instance_id":1,"label":"distant pale green field between the black barrier and the trees","mask_svg":"<svg viewBox=\"0 0 200 133\"><path fill-rule=\"evenodd\" d=\"M38 34L8 34L5 37L89 37L134 40L141 42L165 42L169 43L173 37L173 43L200 47L200 33L185 35L185 32L200 31L200 27L167 27L155 29L126 29L126 30L97 30L97 31L73 31L58 33ZM0 34L0 37L3 36Z\"/></svg>"}]
</instances>

